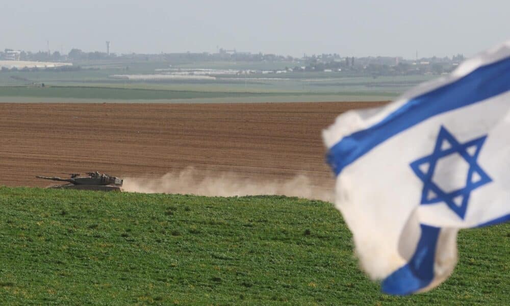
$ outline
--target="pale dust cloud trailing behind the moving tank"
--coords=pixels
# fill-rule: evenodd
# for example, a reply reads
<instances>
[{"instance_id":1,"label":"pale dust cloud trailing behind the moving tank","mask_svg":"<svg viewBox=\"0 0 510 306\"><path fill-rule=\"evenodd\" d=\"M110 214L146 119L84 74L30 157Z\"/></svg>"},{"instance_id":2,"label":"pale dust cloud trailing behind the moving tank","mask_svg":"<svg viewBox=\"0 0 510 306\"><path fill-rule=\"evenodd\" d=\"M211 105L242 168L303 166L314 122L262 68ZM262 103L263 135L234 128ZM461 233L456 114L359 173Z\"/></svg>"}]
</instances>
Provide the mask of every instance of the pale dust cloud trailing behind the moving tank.
<instances>
[{"instance_id":1,"label":"pale dust cloud trailing behind the moving tank","mask_svg":"<svg viewBox=\"0 0 510 306\"><path fill-rule=\"evenodd\" d=\"M197 170L188 167L168 172L161 177L125 177L122 189L141 193L180 193L204 196L286 195L333 201L333 193L312 185L310 179L298 174L289 180L257 180L235 172Z\"/></svg>"}]
</instances>

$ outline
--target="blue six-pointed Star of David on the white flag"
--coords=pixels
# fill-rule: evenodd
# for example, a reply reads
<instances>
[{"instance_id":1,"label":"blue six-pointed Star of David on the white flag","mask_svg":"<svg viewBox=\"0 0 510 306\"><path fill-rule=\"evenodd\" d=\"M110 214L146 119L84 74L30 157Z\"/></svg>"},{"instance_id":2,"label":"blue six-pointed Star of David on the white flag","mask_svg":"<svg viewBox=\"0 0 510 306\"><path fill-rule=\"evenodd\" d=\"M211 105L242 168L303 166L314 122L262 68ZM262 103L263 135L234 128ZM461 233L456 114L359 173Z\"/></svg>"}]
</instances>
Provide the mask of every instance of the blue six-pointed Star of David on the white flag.
<instances>
[{"instance_id":1,"label":"blue six-pointed Star of David on the white flag","mask_svg":"<svg viewBox=\"0 0 510 306\"><path fill-rule=\"evenodd\" d=\"M487 135L459 143L444 126L441 126L436 145L432 154L411 163L411 168L423 182L421 205L444 202L461 219L464 219L468 208L471 191L492 182L492 179L477 163L477 158ZM446 143L445 143L446 142ZM445 145L446 144L446 148ZM432 182L438 160L458 153L469 164L466 185L463 188L445 192Z\"/></svg>"}]
</instances>

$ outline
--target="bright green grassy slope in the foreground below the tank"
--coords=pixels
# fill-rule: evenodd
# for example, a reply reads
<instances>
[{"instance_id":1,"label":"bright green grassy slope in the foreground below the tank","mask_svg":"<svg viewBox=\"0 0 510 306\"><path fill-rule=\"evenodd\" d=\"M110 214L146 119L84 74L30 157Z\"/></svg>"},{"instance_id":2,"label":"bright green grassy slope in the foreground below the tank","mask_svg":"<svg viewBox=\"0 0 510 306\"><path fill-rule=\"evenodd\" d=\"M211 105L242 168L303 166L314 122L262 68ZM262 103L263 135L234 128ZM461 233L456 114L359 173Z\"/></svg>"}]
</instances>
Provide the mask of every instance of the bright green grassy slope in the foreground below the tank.
<instances>
[{"instance_id":1,"label":"bright green grassy slope in the foreground below the tank","mask_svg":"<svg viewBox=\"0 0 510 306\"><path fill-rule=\"evenodd\" d=\"M0 300L13 304L510 304L510 224L461 232L432 292L359 271L329 203L0 187Z\"/></svg>"}]
</instances>

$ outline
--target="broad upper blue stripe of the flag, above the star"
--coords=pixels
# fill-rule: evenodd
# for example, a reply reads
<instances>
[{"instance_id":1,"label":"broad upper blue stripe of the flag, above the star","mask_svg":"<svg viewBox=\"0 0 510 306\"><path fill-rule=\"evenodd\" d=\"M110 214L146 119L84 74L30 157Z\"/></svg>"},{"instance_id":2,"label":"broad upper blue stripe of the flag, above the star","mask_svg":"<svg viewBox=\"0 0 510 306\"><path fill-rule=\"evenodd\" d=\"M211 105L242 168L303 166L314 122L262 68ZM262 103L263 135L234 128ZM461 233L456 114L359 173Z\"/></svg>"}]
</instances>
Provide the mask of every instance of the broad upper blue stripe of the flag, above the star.
<instances>
[{"instance_id":1,"label":"broad upper blue stripe of the flag, above the star","mask_svg":"<svg viewBox=\"0 0 510 306\"><path fill-rule=\"evenodd\" d=\"M327 162L338 175L344 167L381 142L432 116L468 106L510 90L510 58L482 66L465 77L410 99L366 130L342 138L329 149Z\"/></svg>"}]
</instances>

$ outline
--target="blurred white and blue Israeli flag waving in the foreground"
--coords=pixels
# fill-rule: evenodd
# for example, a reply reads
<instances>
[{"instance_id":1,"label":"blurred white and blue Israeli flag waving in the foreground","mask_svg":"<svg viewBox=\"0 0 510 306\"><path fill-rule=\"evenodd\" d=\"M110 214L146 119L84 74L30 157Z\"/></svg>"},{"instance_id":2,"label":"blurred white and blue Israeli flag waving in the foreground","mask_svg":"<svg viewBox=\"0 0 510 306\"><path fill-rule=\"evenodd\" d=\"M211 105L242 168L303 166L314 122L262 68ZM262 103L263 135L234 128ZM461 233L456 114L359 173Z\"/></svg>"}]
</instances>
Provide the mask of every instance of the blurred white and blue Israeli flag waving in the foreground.
<instances>
[{"instance_id":1,"label":"blurred white and blue Israeli flag waving in the foreground","mask_svg":"<svg viewBox=\"0 0 510 306\"><path fill-rule=\"evenodd\" d=\"M510 220L510 41L323 139L362 268L389 294L438 286L458 230Z\"/></svg>"}]
</instances>

